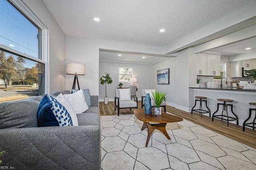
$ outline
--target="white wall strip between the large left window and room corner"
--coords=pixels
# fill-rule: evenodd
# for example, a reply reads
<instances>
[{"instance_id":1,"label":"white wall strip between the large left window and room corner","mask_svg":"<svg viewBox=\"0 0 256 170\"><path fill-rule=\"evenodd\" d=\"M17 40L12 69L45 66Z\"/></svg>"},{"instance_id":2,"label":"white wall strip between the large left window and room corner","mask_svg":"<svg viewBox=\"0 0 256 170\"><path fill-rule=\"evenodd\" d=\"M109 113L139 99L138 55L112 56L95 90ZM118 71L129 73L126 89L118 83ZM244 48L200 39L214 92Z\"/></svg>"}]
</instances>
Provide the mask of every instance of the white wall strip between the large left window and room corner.
<instances>
[{"instance_id":1,"label":"white wall strip between the large left window and room corner","mask_svg":"<svg viewBox=\"0 0 256 170\"><path fill-rule=\"evenodd\" d=\"M27 6L49 29L50 91L66 89L66 35L42 0L24 0Z\"/></svg>"}]
</instances>

